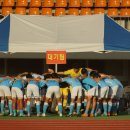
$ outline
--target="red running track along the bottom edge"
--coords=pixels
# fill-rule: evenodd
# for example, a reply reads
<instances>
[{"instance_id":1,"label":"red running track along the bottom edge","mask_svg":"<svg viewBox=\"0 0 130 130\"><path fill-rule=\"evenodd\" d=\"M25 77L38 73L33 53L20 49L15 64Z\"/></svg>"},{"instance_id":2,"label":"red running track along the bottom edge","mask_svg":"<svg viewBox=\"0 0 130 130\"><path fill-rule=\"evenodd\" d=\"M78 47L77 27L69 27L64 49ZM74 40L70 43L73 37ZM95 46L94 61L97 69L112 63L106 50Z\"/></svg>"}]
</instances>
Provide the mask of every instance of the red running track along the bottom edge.
<instances>
[{"instance_id":1,"label":"red running track along the bottom edge","mask_svg":"<svg viewBox=\"0 0 130 130\"><path fill-rule=\"evenodd\" d=\"M0 120L0 130L130 130L130 120Z\"/></svg>"}]
</instances>

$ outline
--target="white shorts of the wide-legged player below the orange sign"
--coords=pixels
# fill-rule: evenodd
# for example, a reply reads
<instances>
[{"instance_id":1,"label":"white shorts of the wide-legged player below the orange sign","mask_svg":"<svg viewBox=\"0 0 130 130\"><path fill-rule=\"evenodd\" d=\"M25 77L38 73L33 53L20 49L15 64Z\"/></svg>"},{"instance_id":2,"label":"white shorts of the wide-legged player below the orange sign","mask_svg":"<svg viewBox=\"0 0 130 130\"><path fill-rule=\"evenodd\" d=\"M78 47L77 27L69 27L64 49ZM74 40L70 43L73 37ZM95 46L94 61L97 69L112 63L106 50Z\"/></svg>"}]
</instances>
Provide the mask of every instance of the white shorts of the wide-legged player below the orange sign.
<instances>
[{"instance_id":1,"label":"white shorts of the wide-legged player below the orange sign","mask_svg":"<svg viewBox=\"0 0 130 130\"><path fill-rule=\"evenodd\" d=\"M60 88L59 86L51 86L47 89L46 97L51 98L52 94L55 94L56 98L60 98Z\"/></svg>"}]
</instances>

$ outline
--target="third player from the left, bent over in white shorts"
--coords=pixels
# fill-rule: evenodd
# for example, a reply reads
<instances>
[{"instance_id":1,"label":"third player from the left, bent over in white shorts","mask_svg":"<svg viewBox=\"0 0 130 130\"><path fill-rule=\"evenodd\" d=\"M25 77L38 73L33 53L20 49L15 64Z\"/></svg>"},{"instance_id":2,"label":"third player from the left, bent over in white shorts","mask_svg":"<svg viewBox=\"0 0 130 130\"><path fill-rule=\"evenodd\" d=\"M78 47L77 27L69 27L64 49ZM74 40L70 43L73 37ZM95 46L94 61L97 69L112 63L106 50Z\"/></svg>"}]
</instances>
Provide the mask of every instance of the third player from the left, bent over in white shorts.
<instances>
[{"instance_id":1,"label":"third player from the left, bent over in white shorts","mask_svg":"<svg viewBox=\"0 0 130 130\"><path fill-rule=\"evenodd\" d=\"M39 78L33 78L31 74L28 74L27 76L27 113L28 117L31 116L31 108L30 108L30 102L32 94L36 101L36 110L37 110L37 116L40 116L40 94L39 94L39 88L43 87L45 85L44 80Z\"/></svg>"}]
</instances>

